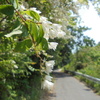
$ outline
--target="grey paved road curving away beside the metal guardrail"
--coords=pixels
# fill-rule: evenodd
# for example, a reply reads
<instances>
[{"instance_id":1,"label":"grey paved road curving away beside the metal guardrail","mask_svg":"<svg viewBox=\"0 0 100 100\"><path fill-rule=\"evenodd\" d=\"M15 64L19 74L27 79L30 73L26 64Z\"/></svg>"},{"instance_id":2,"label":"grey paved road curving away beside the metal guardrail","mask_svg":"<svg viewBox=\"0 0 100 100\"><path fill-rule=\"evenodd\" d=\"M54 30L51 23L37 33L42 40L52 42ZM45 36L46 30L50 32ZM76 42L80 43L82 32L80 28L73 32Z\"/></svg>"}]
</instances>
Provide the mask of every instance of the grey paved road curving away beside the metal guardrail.
<instances>
[{"instance_id":1,"label":"grey paved road curving away beside the metal guardrail","mask_svg":"<svg viewBox=\"0 0 100 100\"><path fill-rule=\"evenodd\" d=\"M100 96L72 76L61 72L54 74L56 81L50 100L100 100Z\"/></svg>"}]
</instances>

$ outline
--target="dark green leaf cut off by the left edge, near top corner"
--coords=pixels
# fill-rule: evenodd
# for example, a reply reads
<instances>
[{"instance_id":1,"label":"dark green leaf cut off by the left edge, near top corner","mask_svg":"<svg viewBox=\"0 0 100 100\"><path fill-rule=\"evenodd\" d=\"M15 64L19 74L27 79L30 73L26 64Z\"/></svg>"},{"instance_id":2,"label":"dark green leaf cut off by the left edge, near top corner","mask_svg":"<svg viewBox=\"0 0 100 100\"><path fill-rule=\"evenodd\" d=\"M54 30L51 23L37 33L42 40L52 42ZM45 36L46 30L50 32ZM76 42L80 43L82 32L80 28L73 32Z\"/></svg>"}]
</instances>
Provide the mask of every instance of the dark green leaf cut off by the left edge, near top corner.
<instances>
[{"instance_id":1,"label":"dark green leaf cut off by the left edge, near top corner","mask_svg":"<svg viewBox=\"0 0 100 100\"><path fill-rule=\"evenodd\" d=\"M0 12L5 15L13 15L14 7L12 5L0 5Z\"/></svg>"}]
</instances>

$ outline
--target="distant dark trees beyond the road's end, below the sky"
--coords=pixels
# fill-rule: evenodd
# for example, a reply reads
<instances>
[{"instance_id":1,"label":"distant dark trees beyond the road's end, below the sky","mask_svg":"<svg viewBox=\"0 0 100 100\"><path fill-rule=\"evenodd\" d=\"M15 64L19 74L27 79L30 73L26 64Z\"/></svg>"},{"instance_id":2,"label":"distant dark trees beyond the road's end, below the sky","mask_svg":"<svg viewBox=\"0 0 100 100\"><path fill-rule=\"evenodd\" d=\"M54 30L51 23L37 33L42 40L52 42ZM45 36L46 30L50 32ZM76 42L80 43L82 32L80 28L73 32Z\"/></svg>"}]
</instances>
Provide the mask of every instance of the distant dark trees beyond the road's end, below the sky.
<instances>
[{"instance_id":1,"label":"distant dark trees beyond the road's end, below the sky","mask_svg":"<svg viewBox=\"0 0 100 100\"><path fill-rule=\"evenodd\" d=\"M52 54L54 58L57 59L55 63L55 68L57 68L58 66L62 67L70 63L73 57L74 58L77 57L77 59L80 59L78 55L78 50L80 50L82 47L84 48L88 46L92 47L95 45L93 39L83 34L84 31L88 30L87 27L68 26L68 30L71 31L71 36L69 36L67 40L56 39L55 41L59 43L56 51L55 52L53 52L53 50L48 51L49 54ZM75 56L72 56L71 58L70 56L72 55L73 52L77 53L75 54ZM80 61L78 61L78 63L80 63Z\"/></svg>"}]
</instances>

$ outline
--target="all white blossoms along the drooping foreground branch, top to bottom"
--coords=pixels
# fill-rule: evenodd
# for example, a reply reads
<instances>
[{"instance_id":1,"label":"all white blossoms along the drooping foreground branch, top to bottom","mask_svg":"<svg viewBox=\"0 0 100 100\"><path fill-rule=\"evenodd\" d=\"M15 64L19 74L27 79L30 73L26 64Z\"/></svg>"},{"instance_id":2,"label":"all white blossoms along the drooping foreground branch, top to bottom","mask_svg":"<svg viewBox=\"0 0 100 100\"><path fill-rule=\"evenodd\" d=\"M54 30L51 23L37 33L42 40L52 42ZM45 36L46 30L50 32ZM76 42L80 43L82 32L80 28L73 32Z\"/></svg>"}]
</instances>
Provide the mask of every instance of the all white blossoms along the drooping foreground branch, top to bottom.
<instances>
[{"instance_id":1,"label":"all white blossoms along the drooping foreground branch, top to bottom","mask_svg":"<svg viewBox=\"0 0 100 100\"><path fill-rule=\"evenodd\" d=\"M21 5L20 7L22 10L25 10L25 7L23 5ZM33 8L31 7L30 10L32 10L38 14L41 13L41 11L37 10L34 7ZM24 15L24 17L27 19L31 19L31 17L28 15ZM49 42L49 39L66 37L66 33L62 30L62 25L52 23L52 22L48 21L48 19L46 17L43 17L43 16L40 16L39 22L42 23L42 27L43 27L43 31L44 31L43 38L45 38L47 40L49 49L53 49L55 51L58 43L57 42ZM54 60L44 61L45 68L42 70L46 75L43 78L43 81L41 84L42 89L50 90L54 85L54 83L52 82L52 77L50 76L50 73L53 71L54 64L55 64Z\"/></svg>"}]
</instances>

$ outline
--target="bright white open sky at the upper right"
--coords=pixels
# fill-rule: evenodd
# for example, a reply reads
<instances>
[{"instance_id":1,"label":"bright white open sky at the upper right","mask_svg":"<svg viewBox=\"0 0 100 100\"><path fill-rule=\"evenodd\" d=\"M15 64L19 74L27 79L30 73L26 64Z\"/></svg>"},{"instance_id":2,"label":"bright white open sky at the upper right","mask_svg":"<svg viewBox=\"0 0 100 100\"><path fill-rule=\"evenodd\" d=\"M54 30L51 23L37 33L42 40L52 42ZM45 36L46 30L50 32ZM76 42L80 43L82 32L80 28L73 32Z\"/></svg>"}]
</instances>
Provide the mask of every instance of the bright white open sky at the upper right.
<instances>
[{"instance_id":1,"label":"bright white open sky at the upper right","mask_svg":"<svg viewBox=\"0 0 100 100\"><path fill-rule=\"evenodd\" d=\"M80 9L79 14L83 21L81 25L92 28L91 30L84 32L84 35L93 38L96 43L100 42L100 16L97 14L92 4L90 4L89 9Z\"/></svg>"}]
</instances>

